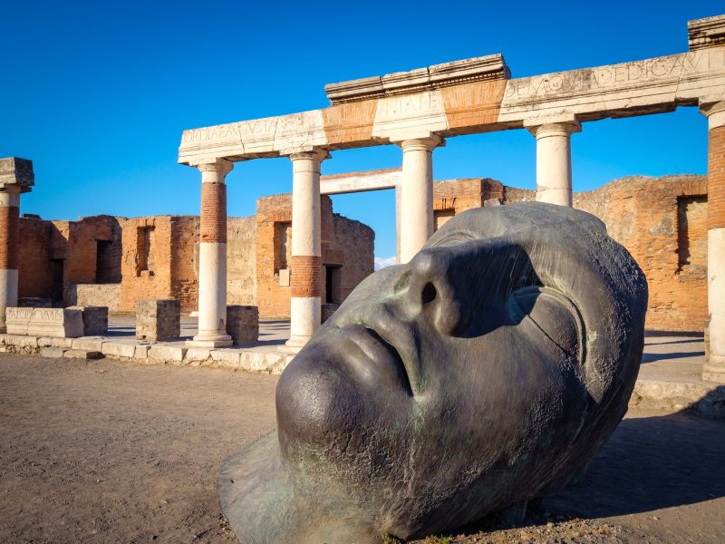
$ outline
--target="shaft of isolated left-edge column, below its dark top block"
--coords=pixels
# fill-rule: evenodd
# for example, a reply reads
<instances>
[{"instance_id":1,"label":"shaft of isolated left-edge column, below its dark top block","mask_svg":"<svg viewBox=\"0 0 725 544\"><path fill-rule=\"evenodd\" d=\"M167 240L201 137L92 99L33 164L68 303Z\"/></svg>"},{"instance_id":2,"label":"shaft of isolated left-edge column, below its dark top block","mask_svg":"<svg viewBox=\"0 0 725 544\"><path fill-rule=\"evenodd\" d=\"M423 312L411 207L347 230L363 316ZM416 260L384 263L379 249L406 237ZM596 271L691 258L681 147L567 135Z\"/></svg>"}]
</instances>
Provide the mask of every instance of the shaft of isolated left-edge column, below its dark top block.
<instances>
[{"instance_id":1,"label":"shaft of isolated left-edge column, below its dark top block","mask_svg":"<svg viewBox=\"0 0 725 544\"><path fill-rule=\"evenodd\" d=\"M20 241L20 188L0 190L0 332L5 309L17 306L17 250Z\"/></svg>"}]
</instances>

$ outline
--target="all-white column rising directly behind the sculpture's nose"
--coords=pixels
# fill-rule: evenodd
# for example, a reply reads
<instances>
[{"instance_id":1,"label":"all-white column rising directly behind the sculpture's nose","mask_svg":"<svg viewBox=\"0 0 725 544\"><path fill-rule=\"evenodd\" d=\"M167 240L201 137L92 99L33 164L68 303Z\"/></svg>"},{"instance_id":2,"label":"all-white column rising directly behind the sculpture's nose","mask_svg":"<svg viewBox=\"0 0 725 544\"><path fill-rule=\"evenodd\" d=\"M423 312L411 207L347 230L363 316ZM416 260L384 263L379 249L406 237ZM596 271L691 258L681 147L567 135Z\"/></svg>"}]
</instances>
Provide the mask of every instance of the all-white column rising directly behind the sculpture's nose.
<instances>
[{"instance_id":1,"label":"all-white column rising directly behind the sculpture's nose","mask_svg":"<svg viewBox=\"0 0 725 544\"><path fill-rule=\"evenodd\" d=\"M401 251L407 263L433 234L433 150L440 136L396 142L402 150Z\"/></svg>"}]
</instances>

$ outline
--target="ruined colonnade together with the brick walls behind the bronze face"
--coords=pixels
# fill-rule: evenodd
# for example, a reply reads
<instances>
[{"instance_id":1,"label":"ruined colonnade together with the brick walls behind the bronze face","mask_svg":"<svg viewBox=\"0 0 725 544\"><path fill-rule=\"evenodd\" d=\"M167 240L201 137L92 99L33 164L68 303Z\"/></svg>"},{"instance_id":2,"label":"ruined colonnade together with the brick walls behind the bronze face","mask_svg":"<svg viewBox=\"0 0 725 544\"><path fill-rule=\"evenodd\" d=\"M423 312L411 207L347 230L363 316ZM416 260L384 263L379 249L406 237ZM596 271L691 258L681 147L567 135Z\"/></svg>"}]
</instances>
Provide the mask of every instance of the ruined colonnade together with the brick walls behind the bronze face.
<instances>
[{"instance_id":1,"label":"ruined colonnade together with the brick walls behind the bronze face","mask_svg":"<svg viewBox=\"0 0 725 544\"><path fill-rule=\"evenodd\" d=\"M703 377L723 382L725 16L691 21L688 33L687 53L518 79L493 54L330 84L322 110L184 131L179 162L201 172L199 218L24 217L32 163L2 160L0 319L7 307L134 312L140 300L175 299L182 314L198 311L189 347L213 350L232 342L227 306L256 306L261 318L291 319L283 351L294 354L372 272L372 230L334 214L328 195L395 189L401 263L464 209L536 199L603 219L649 279L648 328L704 330ZM709 121L707 179L636 177L573 192L572 133L585 138L587 121L680 106ZM536 191L433 182L433 151L446 139L517 129L536 138ZM386 144L401 148L400 170L320 175L333 151ZM280 156L292 161L292 194L260 199L256 216L227 218L228 171Z\"/></svg>"}]
</instances>

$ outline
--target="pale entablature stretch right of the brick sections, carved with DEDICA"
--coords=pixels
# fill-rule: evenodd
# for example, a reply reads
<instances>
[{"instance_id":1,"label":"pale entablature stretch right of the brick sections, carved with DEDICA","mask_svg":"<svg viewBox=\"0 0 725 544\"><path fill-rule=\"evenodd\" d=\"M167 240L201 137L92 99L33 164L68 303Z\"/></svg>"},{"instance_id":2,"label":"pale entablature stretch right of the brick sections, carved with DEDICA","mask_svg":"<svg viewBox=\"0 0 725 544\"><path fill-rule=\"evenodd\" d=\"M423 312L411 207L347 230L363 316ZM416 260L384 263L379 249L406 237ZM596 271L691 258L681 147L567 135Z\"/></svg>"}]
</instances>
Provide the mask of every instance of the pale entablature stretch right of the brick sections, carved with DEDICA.
<instances>
[{"instance_id":1,"label":"pale entablature stretch right of the brick sections, carved with DEDICA","mask_svg":"<svg viewBox=\"0 0 725 544\"><path fill-rule=\"evenodd\" d=\"M677 83L682 75L722 69L725 69L725 49L681 53L635 63L511 80L507 85L504 99L599 92L650 81L672 80L672 83Z\"/></svg>"}]
</instances>

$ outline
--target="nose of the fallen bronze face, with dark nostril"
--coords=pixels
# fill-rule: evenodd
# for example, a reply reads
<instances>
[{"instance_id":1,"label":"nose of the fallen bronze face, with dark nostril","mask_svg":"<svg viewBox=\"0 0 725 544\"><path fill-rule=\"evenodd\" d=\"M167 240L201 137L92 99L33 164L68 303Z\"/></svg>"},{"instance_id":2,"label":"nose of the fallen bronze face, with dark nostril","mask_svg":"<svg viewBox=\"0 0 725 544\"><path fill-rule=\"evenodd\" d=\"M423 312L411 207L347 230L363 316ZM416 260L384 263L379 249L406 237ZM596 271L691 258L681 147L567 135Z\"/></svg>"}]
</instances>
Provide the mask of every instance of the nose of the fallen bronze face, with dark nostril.
<instances>
[{"instance_id":1,"label":"nose of the fallen bronze face, with dark nostril","mask_svg":"<svg viewBox=\"0 0 725 544\"><path fill-rule=\"evenodd\" d=\"M442 248L423 249L409 264L402 297L404 312L424 316L445 335L459 335L469 325L467 300L460 296L456 258Z\"/></svg>"}]
</instances>

